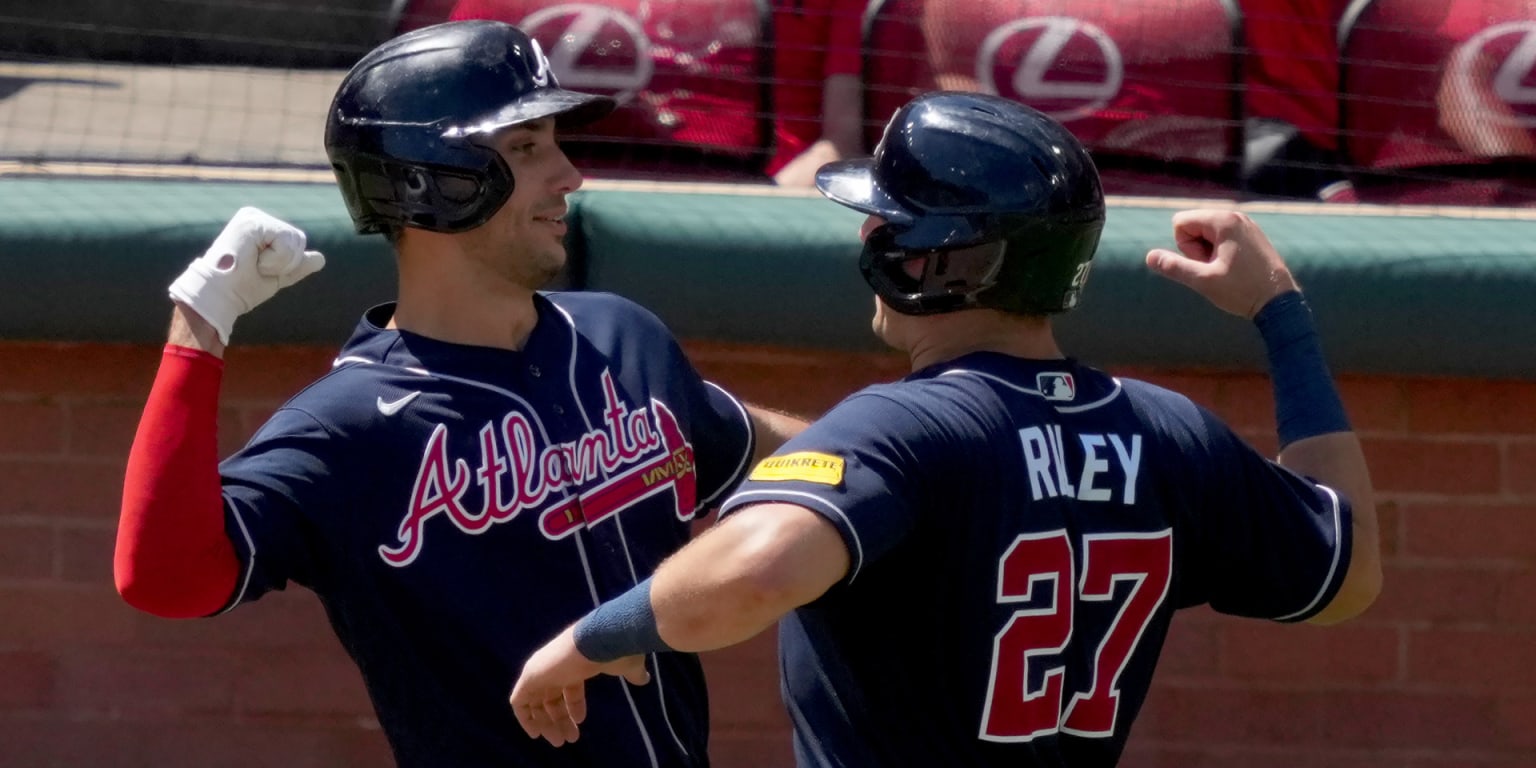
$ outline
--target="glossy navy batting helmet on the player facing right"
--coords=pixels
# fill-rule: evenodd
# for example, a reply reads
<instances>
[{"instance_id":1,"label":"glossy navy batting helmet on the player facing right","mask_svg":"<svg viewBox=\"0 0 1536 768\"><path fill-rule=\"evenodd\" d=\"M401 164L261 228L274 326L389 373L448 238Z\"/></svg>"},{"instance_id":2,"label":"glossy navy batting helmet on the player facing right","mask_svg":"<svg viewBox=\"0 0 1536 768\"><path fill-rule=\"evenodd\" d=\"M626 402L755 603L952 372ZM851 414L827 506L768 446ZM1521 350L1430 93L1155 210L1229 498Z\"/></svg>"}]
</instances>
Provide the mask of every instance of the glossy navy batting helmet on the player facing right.
<instances>
[{"instance_id":1,"label":"glossy navy batting helmet on the player facing right","mask_svg":"<svg viewBox=\"0 0 1536 768\"><path fill-rule=\"evenodd\" d=\"M521 29L450 22L389 40L347 72L326 118L326 154L358 232L464 232L511 195L492 134L542 117L581 126L613 106L562 89Z\"/></svg>"}]
</instances>

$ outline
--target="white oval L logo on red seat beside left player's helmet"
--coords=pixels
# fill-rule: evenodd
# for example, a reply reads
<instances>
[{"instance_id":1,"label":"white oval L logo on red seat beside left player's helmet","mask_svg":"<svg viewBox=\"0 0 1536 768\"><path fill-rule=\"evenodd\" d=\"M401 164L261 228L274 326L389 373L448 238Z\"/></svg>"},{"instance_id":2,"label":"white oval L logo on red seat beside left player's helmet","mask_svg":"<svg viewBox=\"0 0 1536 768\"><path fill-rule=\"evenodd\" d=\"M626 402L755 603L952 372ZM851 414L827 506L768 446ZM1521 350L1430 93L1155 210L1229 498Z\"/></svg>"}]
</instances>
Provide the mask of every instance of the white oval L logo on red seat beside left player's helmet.
<instances>
[{"instance_id":1,"label":"white oval L logo on red seat beside left player's helmet","mask_svg":"<svg viewBox=\"0 0 1536 768\"><path fill-rule=\"evenodd\" d=\"M528 14L518 26L550 49L554 77L570 89L634 98L651 81L651 41L645 26L614 8L567 3Z\"/></svg>"}]
</instances>

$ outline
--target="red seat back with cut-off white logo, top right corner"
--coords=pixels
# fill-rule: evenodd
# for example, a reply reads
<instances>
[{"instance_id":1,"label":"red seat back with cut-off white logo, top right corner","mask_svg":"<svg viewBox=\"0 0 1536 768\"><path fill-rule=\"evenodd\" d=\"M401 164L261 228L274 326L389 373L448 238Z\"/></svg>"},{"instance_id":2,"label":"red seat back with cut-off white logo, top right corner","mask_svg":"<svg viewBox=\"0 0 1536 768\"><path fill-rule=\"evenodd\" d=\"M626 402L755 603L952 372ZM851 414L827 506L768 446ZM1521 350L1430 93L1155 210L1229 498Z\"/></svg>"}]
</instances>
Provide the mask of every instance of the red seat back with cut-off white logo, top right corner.
<instances>
[{"instance_id":1,"label":"red seat back with cut-off white logo, top right corner","mask_svg":"<svg viewBox=\"0 0 1536 768\"><path fill-rule=\"evenodd\" d=\"M1536 204L1536 0L1361 2L1339 40L1361 200Z\"/></svg>"}]
</instances>

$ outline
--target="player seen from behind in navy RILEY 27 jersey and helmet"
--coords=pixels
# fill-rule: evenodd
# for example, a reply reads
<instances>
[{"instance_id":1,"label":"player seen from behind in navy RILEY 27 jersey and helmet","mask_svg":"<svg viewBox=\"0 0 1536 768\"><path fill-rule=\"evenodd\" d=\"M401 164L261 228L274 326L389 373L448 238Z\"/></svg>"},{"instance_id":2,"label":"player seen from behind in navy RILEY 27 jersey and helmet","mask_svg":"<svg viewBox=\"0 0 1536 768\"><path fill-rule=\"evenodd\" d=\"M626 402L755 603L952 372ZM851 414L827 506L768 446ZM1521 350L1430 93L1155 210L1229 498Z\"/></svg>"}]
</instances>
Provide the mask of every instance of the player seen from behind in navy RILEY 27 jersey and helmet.
<instances>
[{"instance_id":1,"label":"player seen from behind in navy RILEY 27 jersey and helmet","mask_svg":"<svg viewBox=\"0 0 1536 768\"><path fill-rule=\"evenodd\" d=\"M1184 396L1058 349L1049 315L1077 304L1104 223L1058 123L926 94L872 160L817 184L869 214L874 330L912 373L834 407L757 464L720 524L541 648L511 691L530 736L598 733L582 680L633 676L634 654L782 616L802 766L1112 765L1175 610L1332 624L1375 599L1366 462L1250 220L1181 212L1178 252L1147 266L1253 319L1278 462Z\"/></svg>"}]
</instances>

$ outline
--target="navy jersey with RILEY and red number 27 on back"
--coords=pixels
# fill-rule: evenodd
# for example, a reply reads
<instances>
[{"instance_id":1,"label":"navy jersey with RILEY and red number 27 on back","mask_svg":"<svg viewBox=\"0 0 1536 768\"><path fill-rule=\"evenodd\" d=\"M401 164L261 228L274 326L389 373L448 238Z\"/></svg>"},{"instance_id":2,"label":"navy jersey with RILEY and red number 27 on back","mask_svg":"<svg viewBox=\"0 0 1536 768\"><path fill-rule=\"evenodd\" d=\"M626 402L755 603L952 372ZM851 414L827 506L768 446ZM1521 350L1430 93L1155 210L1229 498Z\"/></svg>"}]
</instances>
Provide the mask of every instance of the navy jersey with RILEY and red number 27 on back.
<instances>
[{"instance_id":1,"label":"navy jersey with RILEY and red number 27 on back","mask_svg":"<svg viewBox=\"0 0 1536 768\"><path fill-rule=\"evenodd\" d=\"M1349 510L1189 399L966 355L852 395L722 513L791 502L846 579L780 622L802 766L1112 765L1177 608L1299 621Z\"/></svg>"}]
</instances>

